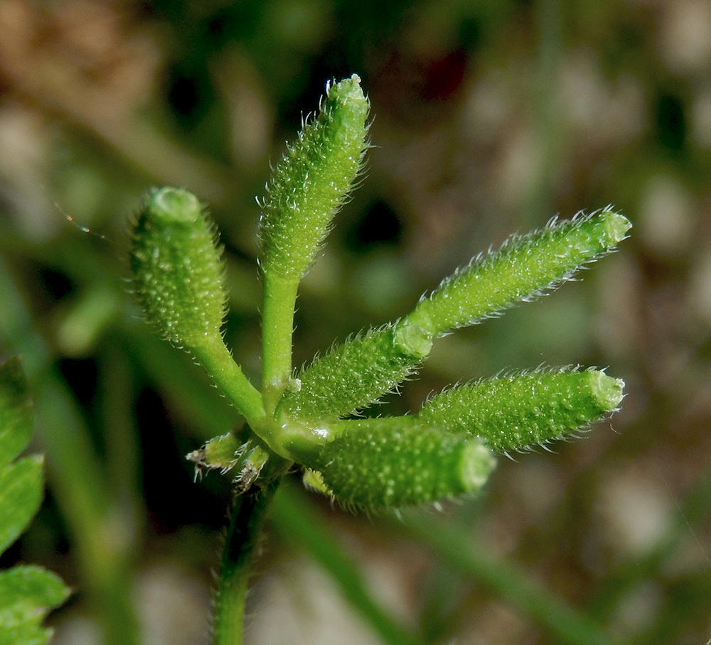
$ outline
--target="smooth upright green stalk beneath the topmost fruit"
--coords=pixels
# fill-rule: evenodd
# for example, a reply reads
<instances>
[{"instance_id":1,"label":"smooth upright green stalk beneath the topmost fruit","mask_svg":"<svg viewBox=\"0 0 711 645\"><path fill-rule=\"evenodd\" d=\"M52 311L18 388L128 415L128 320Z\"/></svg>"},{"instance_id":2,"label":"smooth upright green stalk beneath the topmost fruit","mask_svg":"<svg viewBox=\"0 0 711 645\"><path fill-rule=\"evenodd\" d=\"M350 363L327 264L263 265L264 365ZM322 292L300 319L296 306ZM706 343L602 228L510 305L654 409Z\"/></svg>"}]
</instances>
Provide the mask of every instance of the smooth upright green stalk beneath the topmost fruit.
<instances>
[{"instance_id":1,"label":"smooth upright green stalk beneath the topmost fruit","mask_svg":"<svg viewBox=\"0 0 711 645\"><path fill-rule=\"evenodd\" d=\"M294 306L299 281L264 272L262 305L262 386L273 411L292 374Z\"/></svg>"}]
</instances>

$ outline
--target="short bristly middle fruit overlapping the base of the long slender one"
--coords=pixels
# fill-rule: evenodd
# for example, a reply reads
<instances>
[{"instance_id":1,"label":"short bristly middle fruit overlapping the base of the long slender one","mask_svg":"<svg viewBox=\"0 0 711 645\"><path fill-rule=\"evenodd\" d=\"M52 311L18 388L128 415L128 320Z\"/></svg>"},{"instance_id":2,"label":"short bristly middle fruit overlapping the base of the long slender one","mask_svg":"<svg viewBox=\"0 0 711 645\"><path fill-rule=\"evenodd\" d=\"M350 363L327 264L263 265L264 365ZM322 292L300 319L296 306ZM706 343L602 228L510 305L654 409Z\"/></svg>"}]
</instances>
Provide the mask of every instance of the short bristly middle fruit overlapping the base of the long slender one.
<instances>
[{"instance_id":1,"label":"short bristly middle fruit overlapping the base of the long slender one","mask_svg":"<svg viewBox=\"0 0 711 645\"><path fill-rule=\"evenodd\" d=\"M415 372L432 347L415 325L385 325L333 347L299 374L278 411L300 420L333 420L380 399Z\"/></svg>"}]
</instances>

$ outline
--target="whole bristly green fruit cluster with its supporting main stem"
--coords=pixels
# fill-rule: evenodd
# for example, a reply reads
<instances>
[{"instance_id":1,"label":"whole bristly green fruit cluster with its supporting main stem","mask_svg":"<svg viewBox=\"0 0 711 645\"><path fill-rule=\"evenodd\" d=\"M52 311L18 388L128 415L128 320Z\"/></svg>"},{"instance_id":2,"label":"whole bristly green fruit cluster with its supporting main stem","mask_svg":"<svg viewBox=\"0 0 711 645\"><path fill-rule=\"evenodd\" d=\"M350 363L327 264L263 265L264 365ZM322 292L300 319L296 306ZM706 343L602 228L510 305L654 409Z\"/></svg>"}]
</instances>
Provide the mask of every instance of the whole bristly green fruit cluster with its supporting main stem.
<instances>
[{"instance_id":1,"label":"whole bristly green fruit cluster with its supporting main stem","mask_svg":"<svg viewBox=\"0 0 711 645\"><path fill-rule=\"evenodd\" d=\"M631 224L610 208L512 237L456 271L409 315L292 372L296 292L362 168L368 111L357 76L327 86L260 203L261 389L223 342L225 276L203 205L186 190L153 190L132 227L133 291L146 319L205 367L247 421L245 430L188 455L200 468L235 476L216 644L241 642L252 551L269 501L293 467L348 507L437 502L481 489L496 453L572 435L622 399L622 381L597 369L536 369L453 387L416 414L354 418L415 374L437 337L550 291L613 250Z\"/></svg>"}]
</instances>

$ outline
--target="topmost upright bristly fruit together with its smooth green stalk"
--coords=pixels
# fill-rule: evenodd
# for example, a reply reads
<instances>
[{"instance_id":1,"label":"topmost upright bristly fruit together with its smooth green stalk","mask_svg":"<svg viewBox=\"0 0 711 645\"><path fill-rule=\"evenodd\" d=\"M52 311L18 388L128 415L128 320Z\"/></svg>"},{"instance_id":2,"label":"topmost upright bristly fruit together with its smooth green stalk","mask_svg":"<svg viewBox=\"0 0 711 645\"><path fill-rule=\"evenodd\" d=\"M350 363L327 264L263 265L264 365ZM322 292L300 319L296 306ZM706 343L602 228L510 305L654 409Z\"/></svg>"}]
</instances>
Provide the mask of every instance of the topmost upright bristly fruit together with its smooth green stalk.
<instances>
[{"instance_id":1,"label":"topmost upright bristly fruit together with its smooth green stalk","mask_svg":"<svg viewBox=\"0 0 711 645\"><path fill-rule=\"evenodd\" d=\"M353 75L326 87L319 113L274 168L262 200L262 381L276 405L292 372L296 290L363 163L370 104Z\"/></svg>"}]
</instances>

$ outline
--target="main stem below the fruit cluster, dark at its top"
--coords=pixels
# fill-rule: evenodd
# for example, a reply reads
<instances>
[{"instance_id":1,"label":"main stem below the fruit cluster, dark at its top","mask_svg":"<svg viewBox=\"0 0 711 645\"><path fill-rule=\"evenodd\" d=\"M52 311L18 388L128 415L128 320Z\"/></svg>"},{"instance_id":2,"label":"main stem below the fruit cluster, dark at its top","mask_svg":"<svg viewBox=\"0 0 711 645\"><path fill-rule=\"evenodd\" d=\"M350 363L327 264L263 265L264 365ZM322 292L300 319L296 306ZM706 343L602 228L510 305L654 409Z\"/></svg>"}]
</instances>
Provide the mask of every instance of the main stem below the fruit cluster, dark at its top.
<instances>
[{"instance_id":1,"label":"main stem below the fruit cluster, dark at its top","mask_svg":"<svg viewBox=\"0 0 711 645\"><path fill-rule=\"evenodd\" d=\"M213 645L241 645L252 555L280 478L235 494L215 595Z\"/></svg>"}]
</instances>

